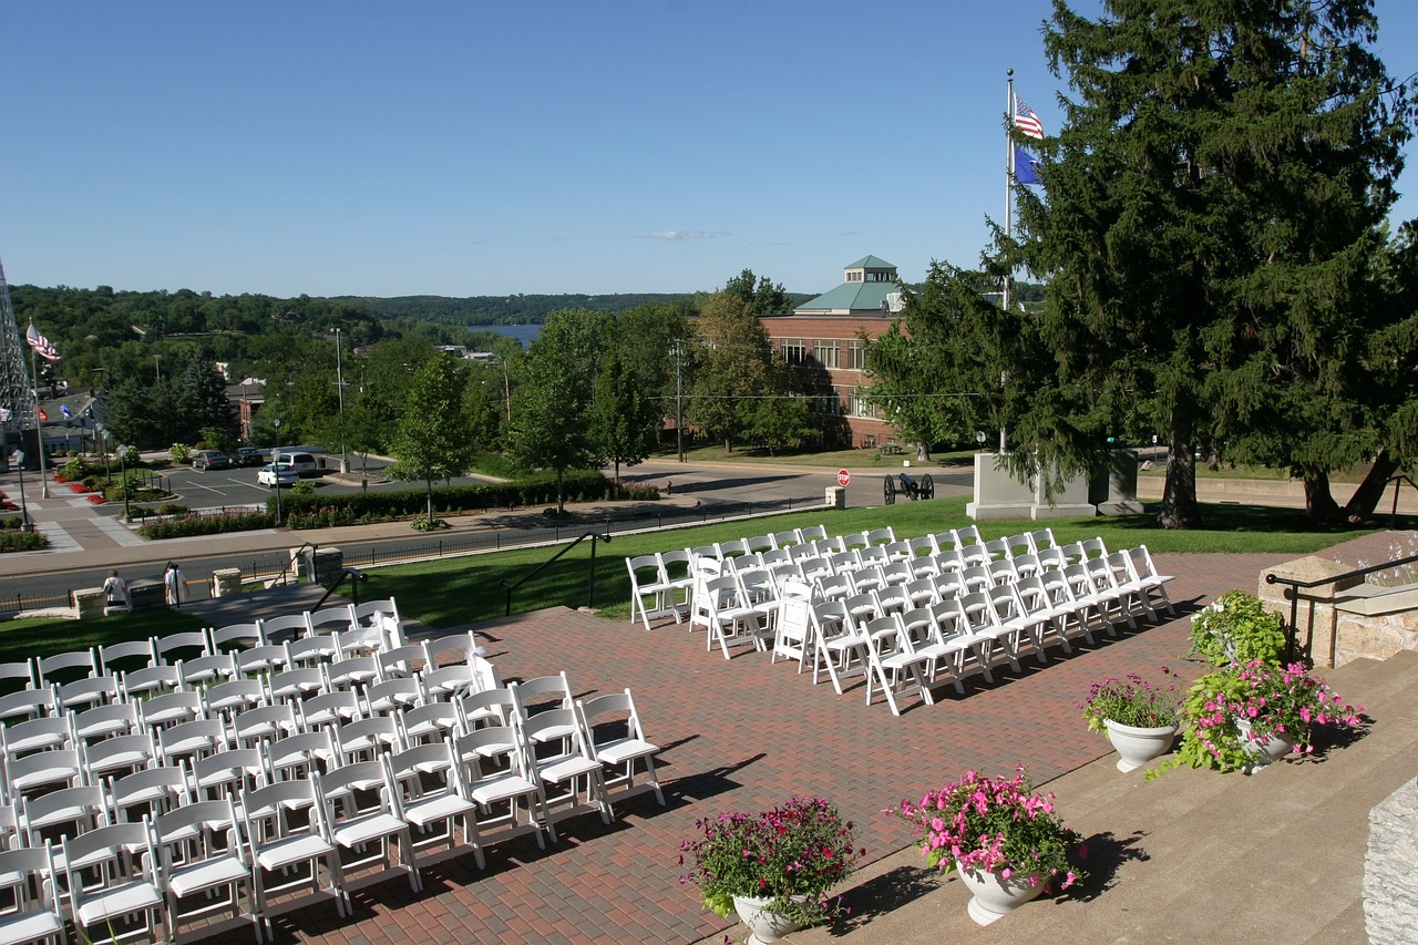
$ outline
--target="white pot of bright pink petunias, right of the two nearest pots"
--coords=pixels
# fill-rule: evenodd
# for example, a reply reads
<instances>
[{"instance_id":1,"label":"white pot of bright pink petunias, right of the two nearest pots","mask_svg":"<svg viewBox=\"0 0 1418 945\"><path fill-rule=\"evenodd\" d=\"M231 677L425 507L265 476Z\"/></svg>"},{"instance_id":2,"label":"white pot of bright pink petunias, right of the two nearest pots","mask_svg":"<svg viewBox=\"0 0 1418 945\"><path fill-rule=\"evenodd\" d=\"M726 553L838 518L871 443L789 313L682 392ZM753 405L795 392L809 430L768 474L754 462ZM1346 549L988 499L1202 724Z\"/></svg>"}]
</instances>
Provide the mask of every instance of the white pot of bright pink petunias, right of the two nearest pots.
<instances>
[{"instance_id":1,"label":"white pot of bright pink petunias, right of the two nearest pots","mask_svg":"<svg viewBox=\"0 0 1418 945\"><path fill-rule=\"evenodd\" d=\"M1052 793L1034 793L1022 766L1014 778L967 770L920 803L902 800L886 813L910 822L920 853L933 867L959 870L973 892L970 917L988 925L1058 881L1083 878L1069 863L1076 831L1054 812Z\"/></svg>"}]
</instances>

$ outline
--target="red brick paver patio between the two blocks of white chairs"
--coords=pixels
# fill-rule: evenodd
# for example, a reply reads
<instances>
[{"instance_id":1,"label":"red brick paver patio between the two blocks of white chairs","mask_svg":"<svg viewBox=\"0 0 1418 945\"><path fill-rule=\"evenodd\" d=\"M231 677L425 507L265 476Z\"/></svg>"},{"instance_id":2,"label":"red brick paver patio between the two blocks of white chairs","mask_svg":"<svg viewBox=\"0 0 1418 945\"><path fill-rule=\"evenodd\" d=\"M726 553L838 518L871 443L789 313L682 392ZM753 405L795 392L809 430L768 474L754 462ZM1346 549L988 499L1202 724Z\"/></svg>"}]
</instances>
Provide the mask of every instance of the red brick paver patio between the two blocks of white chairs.
<instances>
[{"instance_id":1,"label":"red brick paver patio between the two blocks of white chairs","mask_svg":"<svg viewBox=\"0 0 1418 945\"><path fill-rule=\"evenodd\" d=\"M767 654L726 661L706 653L702 634L672 621L647 633L620 620L545 610L479 624L505 678L566 670L583 697L630 687L648 735L665 749L668 806L642 795L618 803L608 827L596 816L564 820L559 844L492 847L485 871L471 854L442 861L424 870L421 895L403 875L366 885L354 892L353 919L337 919L333 905L296 910L277 917L277 939L698 941L729 924L679 883L679 843L693 836L696 817L821 795L855 819L871 858L886 856L909 836L881 812L905 796L967 768L1005 772L1022 762L1046 782L1106 755L1106 739L1086 731L1076 708L1089 682L1181 665L1188 614L1231 587L1254 592L1262 569L1288 558L1157 556L1159 569L1176 575L1168 589L1177 617L1124 629L1116 640L1099 637L1069 656L1055 647L1046 665L1027 660L1021 674L997 674L994 685L974 678L963 697L942 685L936 705L909 697L900 718L879 695L868 707L861 678L838 697L794 664L770 664ZM1188 673L1184 667L1181 675Z\"/></svg>"}]
</instances>

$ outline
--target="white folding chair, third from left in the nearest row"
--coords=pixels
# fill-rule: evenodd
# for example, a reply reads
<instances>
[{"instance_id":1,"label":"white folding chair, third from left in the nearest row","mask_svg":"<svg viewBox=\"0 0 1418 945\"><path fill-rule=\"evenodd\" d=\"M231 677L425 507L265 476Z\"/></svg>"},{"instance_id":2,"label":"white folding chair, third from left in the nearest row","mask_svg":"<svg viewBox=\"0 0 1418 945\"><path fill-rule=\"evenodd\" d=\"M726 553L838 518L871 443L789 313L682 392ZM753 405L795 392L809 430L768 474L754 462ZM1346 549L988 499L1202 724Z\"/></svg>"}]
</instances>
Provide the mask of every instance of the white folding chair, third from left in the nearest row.
<instances>
[{"instance_id":1,"label":"white folding chair, third from left in the nearest row","mask_svg":"<svg viewBox=\"0 0 1418 945\"><path fill-rule=\"evenodd\" d=\"M231 797L159 814L153 820L153 844L162 864L167 932L173 939L187 922L201 921L208 929L216 917L230 912L233 919L250 918L257 942L265 941L252 890L251 856Z\"/></svg>"}]
</instances>

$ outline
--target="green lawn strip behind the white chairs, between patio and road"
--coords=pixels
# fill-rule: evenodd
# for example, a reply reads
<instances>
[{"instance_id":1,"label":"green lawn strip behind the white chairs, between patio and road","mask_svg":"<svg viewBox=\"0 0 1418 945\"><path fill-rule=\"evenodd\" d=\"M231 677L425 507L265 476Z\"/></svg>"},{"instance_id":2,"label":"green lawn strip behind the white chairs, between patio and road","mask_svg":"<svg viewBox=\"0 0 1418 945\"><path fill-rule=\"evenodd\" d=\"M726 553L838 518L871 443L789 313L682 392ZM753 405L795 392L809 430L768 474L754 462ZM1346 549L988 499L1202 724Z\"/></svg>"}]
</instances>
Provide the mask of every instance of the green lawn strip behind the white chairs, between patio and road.
<instances>
[{"instance_id":1,"label":"green lawn strip behind the white chairs, between patio and road","mask_svg":"<svg viewBox=\"0 0 1418 945\"><path fill-rule=\"evenodd\" d=\"M634 555L709 545L730 538L817 524L825 525L830 534L891 525L898 538L915 538L970 525L964 507L963 497L953 497L839 512L814 509L742 522L617 535L610 545L603 543L596 548L594 603L608 617L620 620L630 617L630 579L624 559ZM1055 522L986 522L980 525L980 531L990 539L1048 525L1059 542L1099 535L1109 548L1147 545L1153 552L1272 552L1296 556L1313 553L1370 531L1316 529L1297 509L1205 505L1202 514L1210 528L1197 532L1159 529L1153 514ZM554 549L537 548L377 568L369 572L369 582L362 586L360 596L370 600L397 597L401 613L434 627L464 626L502 616L506 596L501 582L522 580L553 553ZM513 595L512 610L522 613L557 604L586 606L588 579L590 545L583 542L535 578L529 578ZM84 624L68 620L21 620L6 624L4 633L0 633L0 661L174 633L196 629L197 623L184 613L167 610L104 617Z\"/></svg>"}]
</instances>

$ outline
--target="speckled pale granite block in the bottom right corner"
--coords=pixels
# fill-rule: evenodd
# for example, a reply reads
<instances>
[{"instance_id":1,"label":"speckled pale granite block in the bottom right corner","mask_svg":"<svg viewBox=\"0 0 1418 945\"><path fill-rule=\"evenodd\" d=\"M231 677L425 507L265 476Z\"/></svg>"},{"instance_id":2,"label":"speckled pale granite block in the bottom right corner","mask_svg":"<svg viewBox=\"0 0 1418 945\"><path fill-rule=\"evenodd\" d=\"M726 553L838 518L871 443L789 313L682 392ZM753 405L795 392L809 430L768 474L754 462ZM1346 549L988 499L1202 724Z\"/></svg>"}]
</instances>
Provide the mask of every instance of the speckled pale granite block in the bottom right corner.
<instances>
[{"instance_id":1,"label":"speckled pale granite block in the bottom right corner","mask_svg":"<svg viewBox=\"0 0 1418 945\"><path fill-rule=\"evenodd\" d=\"M1414 941L1418 915L1418 782L1408 779L1368 812L1364 928L1373 945Z\"/></svg>"}]
</instances>

